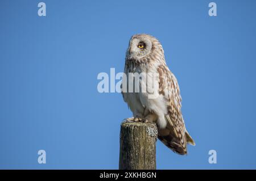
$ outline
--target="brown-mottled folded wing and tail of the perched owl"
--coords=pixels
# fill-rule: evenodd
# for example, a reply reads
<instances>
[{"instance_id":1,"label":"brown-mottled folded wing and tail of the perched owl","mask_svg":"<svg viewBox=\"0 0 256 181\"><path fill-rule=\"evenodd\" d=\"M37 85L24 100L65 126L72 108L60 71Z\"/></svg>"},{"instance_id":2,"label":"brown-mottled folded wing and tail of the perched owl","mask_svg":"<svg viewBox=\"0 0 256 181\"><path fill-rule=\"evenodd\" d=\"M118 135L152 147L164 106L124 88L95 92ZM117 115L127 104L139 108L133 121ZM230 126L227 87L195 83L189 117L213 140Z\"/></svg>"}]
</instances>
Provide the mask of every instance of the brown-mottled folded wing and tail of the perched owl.
<instances>
[{"instance_id":1,"label":"brown-mottled folded wing and tail of the perched owl","mask_svg":"<svg viewBox=\"0 0 256 181\"><path fill-rule=\"evenodd\" d=\"M159 73L159 80L159 92L167 99L168 113L167 127L159 129L158 138L175 153L187 154L187 142L192 145L195 145L195 142L185 129L177 79L167 66L163 66L162 73Z\"/></svg>"}]
</instances>

